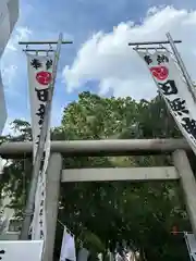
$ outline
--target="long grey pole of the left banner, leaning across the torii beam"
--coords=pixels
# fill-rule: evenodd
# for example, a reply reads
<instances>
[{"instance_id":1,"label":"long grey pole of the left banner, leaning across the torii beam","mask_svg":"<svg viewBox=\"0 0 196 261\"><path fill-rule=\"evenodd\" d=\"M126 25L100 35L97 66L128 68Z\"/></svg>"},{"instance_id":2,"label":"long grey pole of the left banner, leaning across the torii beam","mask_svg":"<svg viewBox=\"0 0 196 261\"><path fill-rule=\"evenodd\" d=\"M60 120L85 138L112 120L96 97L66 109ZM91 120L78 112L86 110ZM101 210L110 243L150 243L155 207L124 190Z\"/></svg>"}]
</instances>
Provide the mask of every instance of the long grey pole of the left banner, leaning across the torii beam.
<instances>
[{"instance_id":1,"label":"long grey pole of the left banner, leaning across the torii beam","mask_svg":"<svg viewBox=\"0 0 196 261\"><path fill-rule=\"evenodd\" d=\"M63 36L62 36L62 34L60 34L59 40L57 44L57 50L54 52L54 60L53 60L53 67L52 67L52 80L49 85L48 101L46 104L46 112L45 112L44 123L42 123L42 127L41 127L41 132L40 132L38 149L37 149L35 162L33 165L32 181L30 181L30 185L29 185L29 194L28 194L28 198L27 198L25 212L24 212L24 220L23 220L22 231L21 231L21 239L22 240L28 239L32 216L34 214L35 196L36 196L37 183L38 183L38 177L39 177L39 169L40 169L41 158L44 154L48 126L49 126L49 122L50 122L52 96L53 96L53 89L54 89L58 61L59 61L59 57L60 57L62 39L63 39Z\"/></svg>"}]
</instances>

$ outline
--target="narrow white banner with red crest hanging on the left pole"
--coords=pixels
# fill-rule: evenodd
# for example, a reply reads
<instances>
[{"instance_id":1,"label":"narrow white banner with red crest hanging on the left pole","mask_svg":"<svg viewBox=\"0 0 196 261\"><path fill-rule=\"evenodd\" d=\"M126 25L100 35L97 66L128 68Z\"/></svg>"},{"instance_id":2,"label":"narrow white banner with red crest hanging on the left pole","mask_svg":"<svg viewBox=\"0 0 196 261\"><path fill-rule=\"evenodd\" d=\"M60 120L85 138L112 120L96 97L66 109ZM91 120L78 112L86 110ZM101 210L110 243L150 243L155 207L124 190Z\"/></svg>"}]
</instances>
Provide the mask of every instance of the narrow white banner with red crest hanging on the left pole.
<instances>
[{"instance_id":1,"label":"narrow white banner with red crest hanging on the left pole","mask_svg":"<svg viewBox=\"0 0 196 261\"><path fill-rule=\"evenodd\" d=\"M46 103L48 101L49 84L52 80L53 58L48 55L33 55L27 53L29 103L32 114L32 132L34 161L38 148L39 136L44 123ZM39 170L39 179L35 198L35 210L32 222L32 239L46 237L46 171L50 157L50 126L48 126L45 152Z\"/></svg>"}]
</instances>

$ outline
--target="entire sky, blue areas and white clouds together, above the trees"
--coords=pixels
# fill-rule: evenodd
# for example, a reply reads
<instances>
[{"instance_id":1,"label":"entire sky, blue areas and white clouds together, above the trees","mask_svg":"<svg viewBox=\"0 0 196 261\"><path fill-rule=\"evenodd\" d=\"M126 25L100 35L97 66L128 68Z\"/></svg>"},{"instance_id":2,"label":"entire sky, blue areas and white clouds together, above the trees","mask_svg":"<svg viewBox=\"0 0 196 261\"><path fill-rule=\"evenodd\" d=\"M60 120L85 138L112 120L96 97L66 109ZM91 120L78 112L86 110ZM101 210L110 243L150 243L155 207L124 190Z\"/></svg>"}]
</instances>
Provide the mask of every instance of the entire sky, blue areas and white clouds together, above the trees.
<instances>
[{"instance_id":1,"label":"entire sky, blue areas and white clouds together, above the trees","mask_svg":"<svg viewBox=\"0 0 196 261\"><path fill-rule=\"evenodd\" d=\"M139 1L138 7L128 0L118 0L118 8L112 8L112 3L108 2L106 5L101 0L101 9L99 0L74 1L69 9L63 0L59 0L59 5L53 2L46 4L46 0L41 4L38 0L26 1L21 0L20 20L1 60L8 123L14 119L29 121L30 115L26 58L17 45L19 39L57 39L58 32L61 30L65 38L71 34L68 39L74 40L74 45L62 48L61 52L53 99L53 126L60 124L62 109L77 99L78 91L88 89L101 95L132 96L136 99L156 95L156 86L145 63L127 47L128 41L163 40L166 32L170 30L173 38L183 40L177 48L193 79L196 78L196 11L188 11L189 7L195 7L196 10L195 1L187 0L179 5L177 0L167 0L176 9L155 7L148 11L150 4L166 0ZM49 15L53 9L57 20L51 20ZM79 18L75 21L75 16ZM128 20L134 22L127 23ZM112 26L115 26L114 30ZM88 38L89 36L91 37ZM65 65L66 69L63 70ZM66 84L62 83L62 78Z\"/></svg>"}]
</instances>

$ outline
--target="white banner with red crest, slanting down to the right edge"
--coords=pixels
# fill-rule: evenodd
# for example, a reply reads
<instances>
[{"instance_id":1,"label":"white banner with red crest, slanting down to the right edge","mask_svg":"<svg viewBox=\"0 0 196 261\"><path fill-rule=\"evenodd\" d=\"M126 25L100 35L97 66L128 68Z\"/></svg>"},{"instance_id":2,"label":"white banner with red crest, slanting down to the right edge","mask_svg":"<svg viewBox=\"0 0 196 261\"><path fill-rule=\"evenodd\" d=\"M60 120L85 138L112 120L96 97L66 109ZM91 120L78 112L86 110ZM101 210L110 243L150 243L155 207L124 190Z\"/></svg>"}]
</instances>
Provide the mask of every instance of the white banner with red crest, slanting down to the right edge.
<instances>
[{"instance_id":1,"label":"white banner with red crest, slanting down to the right edge","mask_svg":"<svg viewBox=\"0 0 196 261\"><path fill-rule=\"evenodd\" d=\"M137 50L181 133L196 154L196 103L170 52Z\"/></svg>"}]
</instances>

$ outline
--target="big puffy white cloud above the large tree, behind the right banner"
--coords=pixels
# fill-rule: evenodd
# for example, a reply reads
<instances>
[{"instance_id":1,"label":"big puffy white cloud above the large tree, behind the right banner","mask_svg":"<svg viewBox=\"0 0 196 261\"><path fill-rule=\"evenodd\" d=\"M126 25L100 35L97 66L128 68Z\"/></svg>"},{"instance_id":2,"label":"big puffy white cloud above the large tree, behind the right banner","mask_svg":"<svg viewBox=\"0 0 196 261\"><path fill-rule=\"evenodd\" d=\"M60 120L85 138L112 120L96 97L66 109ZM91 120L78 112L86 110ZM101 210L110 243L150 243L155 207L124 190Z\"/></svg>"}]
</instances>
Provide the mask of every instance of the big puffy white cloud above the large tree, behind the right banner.
<instances>
[{"instance_id":1,"label":"big puffy white cloud above the large tree, behind the right banner","mask_svg":"<svg viewBox=\"0 0 196 261\"><path fill-rule=\"evenodd\" d=\"M154 97L157 89L147 67L127 42L166 40L167 32L183 41L177 48L191 76L196 78L196 11L151 8L139 25L121 23L109 34L98 32L82 46L73 64L63 70L68 91L94 79L100 83L102 95L113 91L114 96L135 99Z\"/></svg>"}]
</instances>

